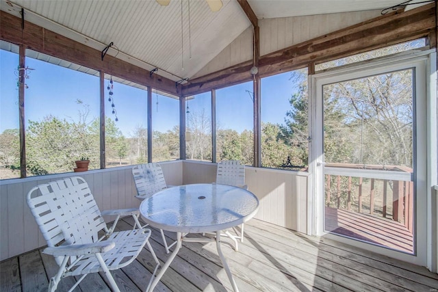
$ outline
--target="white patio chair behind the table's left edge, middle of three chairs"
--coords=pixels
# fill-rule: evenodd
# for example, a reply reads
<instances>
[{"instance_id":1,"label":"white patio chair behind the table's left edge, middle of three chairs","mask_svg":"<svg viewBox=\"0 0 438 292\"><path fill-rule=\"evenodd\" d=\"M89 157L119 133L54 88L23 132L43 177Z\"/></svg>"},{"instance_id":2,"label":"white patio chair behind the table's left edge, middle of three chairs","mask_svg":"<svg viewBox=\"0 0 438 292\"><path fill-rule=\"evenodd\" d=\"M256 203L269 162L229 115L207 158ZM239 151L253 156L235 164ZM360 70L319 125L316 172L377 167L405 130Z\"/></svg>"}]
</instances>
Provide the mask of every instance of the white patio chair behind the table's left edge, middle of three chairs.
<instances>
[{"instance_id":1,"label":"white patio chair behind the table's left edge, middle of three chairs","mask_svg":"<svg viewBox=\"0 0 438 292\"><path fill-rule=\"evenodd\" d=\"M158 191L161 191L162 189L166 189L168 187L166 185L166 180L164 179L162 167L158 163L152 162L135 165L132 168L132 175L134 178L134 182L136 183L136 198L138 198L138 200L144 200L145 198L149 198ZM148 226L148 224L142 227L146 226ZM164 248L166 249L166 253L168 254L169 248L172 248L172 246L175 245L177 241L174 241L172 244L168 245L163 230L160 229L159 231L162 234Z\"/></svg>"}]
</instances>

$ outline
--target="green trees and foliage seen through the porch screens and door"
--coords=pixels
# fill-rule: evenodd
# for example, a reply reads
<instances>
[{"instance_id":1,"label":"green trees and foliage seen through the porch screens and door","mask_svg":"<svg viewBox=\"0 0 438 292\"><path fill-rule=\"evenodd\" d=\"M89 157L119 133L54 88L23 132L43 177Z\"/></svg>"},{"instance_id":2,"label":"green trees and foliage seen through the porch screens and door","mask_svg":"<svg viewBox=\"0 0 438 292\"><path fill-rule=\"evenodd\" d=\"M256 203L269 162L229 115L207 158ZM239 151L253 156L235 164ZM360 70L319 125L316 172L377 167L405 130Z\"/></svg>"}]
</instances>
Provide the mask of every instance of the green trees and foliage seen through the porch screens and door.
<instances>
[{"instance_id":1,"label":"green trees and foliage seen through the porch screens and door","mask_svg":"<svg viewBox=\"0 0 438 292\"><path fill-rule=\"evenodd\" d=\"M391 53L394 49L387 49ZM368 55L351 56L356 62L385 55L385 49ZM374 55L373 55L374 54ZM327 65L327 64L326 64ZM328 66L328 65L327 65ZM329 163L376 165L413 165L413 72L410 69L384 75L324 85L324 159ZM290 75L291 88L297 90L289 98L289 110L283 124L262 123L262 165L281 168L289 157L292 165L307 166L309 160L309 98L307 71L295 70ZM74 161L90 159L90 169L100 167L99 119L88 121L88 105L79 111L77 122L53 116L42 121L29 121L26 129L26 161L29 173L51 174L71 172ZM205 111L188 116L186 156L210 160L211 120ZM178 159L179 127L166 133L153 132L153 160ZM254 133L245 130L218 129L216 160L236 159L252 165ZM0 134L0 163L11 170L20 168L18 129ZM111 118L105 118L105 158L121 165L145 163L147 129L138 126L127 138ZM290 168L289 168L290 169ZM342 195L344 196L344 195Z\"/></svg>"}]
</instances>

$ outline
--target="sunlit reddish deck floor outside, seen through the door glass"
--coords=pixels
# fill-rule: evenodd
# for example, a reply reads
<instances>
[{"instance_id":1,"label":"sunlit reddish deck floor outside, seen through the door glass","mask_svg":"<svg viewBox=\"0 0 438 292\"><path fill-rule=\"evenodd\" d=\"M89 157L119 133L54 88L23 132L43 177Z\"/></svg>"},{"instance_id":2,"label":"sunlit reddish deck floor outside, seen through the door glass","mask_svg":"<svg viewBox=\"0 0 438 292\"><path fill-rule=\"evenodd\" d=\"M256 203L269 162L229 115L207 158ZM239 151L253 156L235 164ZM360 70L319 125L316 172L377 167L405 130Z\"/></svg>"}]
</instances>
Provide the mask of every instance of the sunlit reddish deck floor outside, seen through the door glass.
<instances>
[{"instance_id":1,"label":"sunlit reddish deck floor outside, seen through the door glass","mask_svg":"<svg viewBox=\"0 0 438 292\"><path fill-rule=\"evenodd\" d=\"M382 217L325 208L326 230L413 254L413 235L401 223Z\"/></svg>"}]
</instances>

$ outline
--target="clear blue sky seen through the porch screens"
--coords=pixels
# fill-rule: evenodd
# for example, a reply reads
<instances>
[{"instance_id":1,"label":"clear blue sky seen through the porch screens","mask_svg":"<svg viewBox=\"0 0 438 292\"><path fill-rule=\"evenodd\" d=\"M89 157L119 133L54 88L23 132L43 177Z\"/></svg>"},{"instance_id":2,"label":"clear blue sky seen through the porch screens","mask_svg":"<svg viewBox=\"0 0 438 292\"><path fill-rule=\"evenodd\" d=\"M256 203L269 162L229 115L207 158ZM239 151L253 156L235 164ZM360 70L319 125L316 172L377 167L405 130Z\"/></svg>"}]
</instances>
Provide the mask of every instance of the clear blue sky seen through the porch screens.
<instances>
[{"instance_id":1,"label":"clear blue sky seen through the porch screens","mask_svg":"<svg viewBox=\"0 0 438 292\"><path fill-rule=\"evenodd\" d=\"M18 55L0 51L0 132L18 128L18 88L16 86L16 68ZM37 59L26 58L29 78L25 83L25 118L40 121L52 115L68 121L79 120L79 113L88 105L88 120L99 118L99 77L77 72L62 66L56 66ZM282 124L289 109L289 97L292 94L290 73L262 79L261 83L261 119L263 122ZM108 101L108 81L105 80L105 114L114 120L111 103ZM217 124L221 129L235 129L242 132L253 129L253 102L250 94L253 83L247 82L229 88L216 90ZM147 93L114 82L114 105L118 122L116 125L127 137L136 127L146 127ZM81 100L83 103L77 103ZM158 105L157 105L158 101ZM210 94L199 94L189 101L190 112L205 108L211 114ZM179 102L153 93L153 129L168 131L179 124Z\"/></svg>"}]
</instances>

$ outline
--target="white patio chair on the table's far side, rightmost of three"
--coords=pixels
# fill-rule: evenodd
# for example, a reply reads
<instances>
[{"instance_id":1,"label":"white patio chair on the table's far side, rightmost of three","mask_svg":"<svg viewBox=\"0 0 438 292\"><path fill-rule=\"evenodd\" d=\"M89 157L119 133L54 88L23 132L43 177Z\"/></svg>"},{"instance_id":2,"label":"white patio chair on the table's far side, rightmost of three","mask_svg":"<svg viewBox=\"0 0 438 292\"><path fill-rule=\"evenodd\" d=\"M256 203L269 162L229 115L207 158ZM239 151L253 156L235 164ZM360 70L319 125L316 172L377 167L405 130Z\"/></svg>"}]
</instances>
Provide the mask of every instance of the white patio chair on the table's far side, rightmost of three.
<instances>
[{"instance_id":1,"label":"white patio chair on the table's far side, rightmost of three","mask_svg":"<svg viewBox=\"0 0 438 292\"><path fill-rule=\"evenodd\" d=\"M245 165L240 164L238 160L222 160L218 163L218 171L216 172L216 183L220 185L233 185L248 189L245 185ZM240 226L240 242L244 241L244 224ZM230 235L228 235L230 236Z\"/></svg>"}]
</instances>

